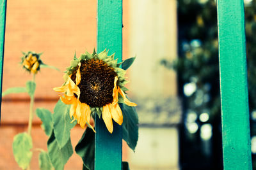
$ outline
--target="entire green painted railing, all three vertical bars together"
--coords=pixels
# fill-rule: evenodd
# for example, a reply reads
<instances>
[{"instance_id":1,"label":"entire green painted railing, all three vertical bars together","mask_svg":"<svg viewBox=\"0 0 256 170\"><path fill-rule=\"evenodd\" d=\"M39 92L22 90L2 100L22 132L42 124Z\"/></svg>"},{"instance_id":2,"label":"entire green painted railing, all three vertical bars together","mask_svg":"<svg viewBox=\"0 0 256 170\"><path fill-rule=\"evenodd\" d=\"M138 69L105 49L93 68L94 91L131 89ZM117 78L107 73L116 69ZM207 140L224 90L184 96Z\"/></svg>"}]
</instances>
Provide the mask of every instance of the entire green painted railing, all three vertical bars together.
<instances>
[{"instance_id":1,"label":"entire green painted railing, all three vertical bars together","mask_svg":"<svg viewBox=\"0 0 256 170\"><path fill-rule=\"evenodd\" d=\"M0 4L0 72L3 76L6 0ZM122 0L98 0L97 51L122 60ZM243 0L218 0L221 116L225 169L252 169ZM0 79L2 88L2 78ZM1 94L0 94L1 95ZM122 127L110 134L96 120L95 169L122 169Z\"/></svg>"}]
</instances>

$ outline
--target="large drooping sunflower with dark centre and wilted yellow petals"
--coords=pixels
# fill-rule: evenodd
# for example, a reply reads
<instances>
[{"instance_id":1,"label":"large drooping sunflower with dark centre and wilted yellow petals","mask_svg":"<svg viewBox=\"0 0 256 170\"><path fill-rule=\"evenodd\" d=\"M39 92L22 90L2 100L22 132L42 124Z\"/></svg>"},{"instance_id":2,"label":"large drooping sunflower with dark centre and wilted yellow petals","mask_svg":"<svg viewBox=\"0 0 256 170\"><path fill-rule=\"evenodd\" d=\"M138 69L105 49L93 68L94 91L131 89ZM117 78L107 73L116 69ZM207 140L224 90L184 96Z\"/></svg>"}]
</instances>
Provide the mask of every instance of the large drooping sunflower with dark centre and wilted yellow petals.
<instances>
[{"instance_id":1,"label":"large drooping sunflower with dark centre and wilted yellow petals","mask_svg":"<svg viewBox=\"0 0 256 170\"><path fill-rule=\"evenodd\" d=\"M113 132L112 119L119 125L123 123L122 110L118 103L136 106L125 96L125 70L120 68L114 54L108 52L97 54L83 53L79 59L70 62L70 67L63 76L65 83L56 87L56 92L63 93L60 97L65 104L71 104L70 118L77 120L82 128L90 124L91 113L102 117L110 133ZM93 129L94 131L94 129Z\"/></svg>"}]
</instances>

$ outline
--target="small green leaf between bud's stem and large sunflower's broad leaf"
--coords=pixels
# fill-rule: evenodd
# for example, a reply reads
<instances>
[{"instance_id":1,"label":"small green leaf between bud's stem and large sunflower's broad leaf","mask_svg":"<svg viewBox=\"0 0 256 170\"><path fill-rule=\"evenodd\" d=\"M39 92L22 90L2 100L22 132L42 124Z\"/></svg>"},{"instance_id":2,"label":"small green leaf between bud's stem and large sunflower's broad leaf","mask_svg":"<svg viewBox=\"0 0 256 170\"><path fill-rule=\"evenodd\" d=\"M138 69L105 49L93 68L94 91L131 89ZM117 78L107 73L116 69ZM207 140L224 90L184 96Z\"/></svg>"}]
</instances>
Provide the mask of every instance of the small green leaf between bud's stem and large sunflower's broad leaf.
<instances>
[{"instance_id":1,"label":"small green leaf between bud's stem and large sunflower's broad leaf","mask_svg":"<svg viewBox=\"0 0 256 170\"><path fill-rule=\"evenodd\" d=\"M47 136L51 135L52 129L53 129L53 122L52 122L52 113L51 111L45 109L45 108L37 108L36 109L36 115L41 119L43 122L41 127L44 129L45 134Z\"/></svg>"}]
</instances>

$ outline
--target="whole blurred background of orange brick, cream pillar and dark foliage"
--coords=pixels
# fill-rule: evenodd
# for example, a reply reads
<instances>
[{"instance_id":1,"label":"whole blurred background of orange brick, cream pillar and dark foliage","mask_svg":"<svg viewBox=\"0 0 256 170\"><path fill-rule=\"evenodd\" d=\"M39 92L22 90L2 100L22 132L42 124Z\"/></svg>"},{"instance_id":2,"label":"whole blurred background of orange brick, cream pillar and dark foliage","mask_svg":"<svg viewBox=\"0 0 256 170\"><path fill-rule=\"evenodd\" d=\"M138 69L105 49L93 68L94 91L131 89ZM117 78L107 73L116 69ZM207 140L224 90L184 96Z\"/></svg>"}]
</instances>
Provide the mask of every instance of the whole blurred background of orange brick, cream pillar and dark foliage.
<instances>
[{"instance_id":1,"label":"whole blurred background of orange brick, cream pillar and dark foliage","mask_svg":"<svg viewBox=\"0 0 256 170\"><path fill-rule=\"evenodd\" d=\"M131 169L223 169L221 147L218 28L214 0L124 0L123 58L136 55L128 71L129 97L138 104L140 132L136 152L123 145ZM256 1L244 0L246 50L256 169ZM3 91L31 80L20 67L22 51L44 52L45 64L65 71L76 51L93 51L97 36L97 1L18 0L7 2ZM35 108L53 111L63 73L41 69L36 75ZM29 96L2 99L0 169L19 169L13 136L27 131ZM34 148L47 149L47 136L35 116ZM83 134L71 131L75 146ZM34 152L31 169L38 168ZM65 169L82 169L74 153Z\"/></svg>"}]
</instances>

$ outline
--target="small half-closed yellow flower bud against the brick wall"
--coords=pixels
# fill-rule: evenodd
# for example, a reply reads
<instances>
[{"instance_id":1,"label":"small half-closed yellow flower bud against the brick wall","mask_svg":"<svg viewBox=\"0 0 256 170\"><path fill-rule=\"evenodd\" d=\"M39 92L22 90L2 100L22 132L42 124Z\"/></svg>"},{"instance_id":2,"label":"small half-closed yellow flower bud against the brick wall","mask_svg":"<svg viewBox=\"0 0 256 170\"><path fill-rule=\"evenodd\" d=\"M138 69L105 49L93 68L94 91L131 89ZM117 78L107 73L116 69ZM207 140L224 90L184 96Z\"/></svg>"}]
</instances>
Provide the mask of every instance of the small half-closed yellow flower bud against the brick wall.
<instances>
[{"instance_id":1,"label":"small half-closed yellow flower bud against the brick wall","mask_svg":"<svg viewBox=\"0 0 256 170\"><path fill-rule=\"evenodd\" d=\"M36 74L37 71L40 70L40 64L42 64L42 60L40 60L40 55L42 53L28 52L23 53L23 57L21 58L22 66L29 71L29 73Z\"/></svg>"}]
</instances>

